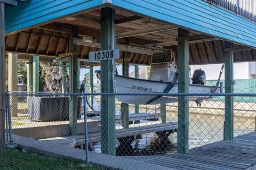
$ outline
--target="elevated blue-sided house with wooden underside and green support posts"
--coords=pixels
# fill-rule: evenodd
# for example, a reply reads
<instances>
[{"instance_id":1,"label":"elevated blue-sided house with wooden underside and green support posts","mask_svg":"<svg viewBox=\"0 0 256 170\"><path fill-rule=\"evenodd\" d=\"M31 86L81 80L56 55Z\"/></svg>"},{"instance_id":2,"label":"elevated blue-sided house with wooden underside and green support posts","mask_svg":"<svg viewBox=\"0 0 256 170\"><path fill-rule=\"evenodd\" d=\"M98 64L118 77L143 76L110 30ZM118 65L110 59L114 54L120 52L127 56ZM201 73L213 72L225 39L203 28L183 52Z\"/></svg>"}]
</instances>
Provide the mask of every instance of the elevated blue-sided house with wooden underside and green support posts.
<instances>
[{"instance_id":1,"label":"elevated blue-sided house with wooden underside and green support posts","mask_svg":"<svg viewBox=\"0 0 256 170\"><path fill-rule=\"evenodd\" d=\"M248 1L252 8L243 6L243 1L221 0L31 0L4 6L5 2L16 1L0 1L0 17L5 21L0 29L1 64L8 53L10 62L28 61L28 83L31 85L33 78L33 91L38 90L39 62L69 57L69 91L76 92L78 63L89 61L89 52L118 48L120 58L115 62L123 63L126 76L129 64L150 65L174 53L180 92L188 92L189 64L225 63L225 92L233 93L233 63L255 61L256 57L253 0ZM110 68L115 62L87 63L101 66L102 92L113 92L115 75ZM4 82L4 77L0 80ZM3 94L1 86L2 99ZM107 107L101 109L101 151L115 155L115 98L102 99ZM71 105L75 102L71 98ZM3 106L0 103L0 108ZM233 140L232 106L232 97L226 97L225 140ZM70 123L72 131L76 113L70 109L69 114L74 121ZM186 96L179 98L178 117L178 152L187 153Z\"/></svg>"}]
</instances>

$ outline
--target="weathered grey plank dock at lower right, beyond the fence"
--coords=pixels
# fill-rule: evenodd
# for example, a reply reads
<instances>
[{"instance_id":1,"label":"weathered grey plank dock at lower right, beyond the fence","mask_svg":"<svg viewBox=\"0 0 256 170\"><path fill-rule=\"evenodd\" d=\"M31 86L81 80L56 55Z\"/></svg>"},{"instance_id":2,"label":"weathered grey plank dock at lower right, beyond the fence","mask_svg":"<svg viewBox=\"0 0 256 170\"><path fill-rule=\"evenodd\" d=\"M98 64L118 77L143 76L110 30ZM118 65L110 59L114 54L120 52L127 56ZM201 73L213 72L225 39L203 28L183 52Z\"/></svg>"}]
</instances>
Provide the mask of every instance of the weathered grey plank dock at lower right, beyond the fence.
<instances>
[{"instance_id":1,"label":"weathered grey plank dock at lower right, beyond the fence","mask_svg":"<svg viewBox=\"0 0 256 170\"><path fill-rule=\"evenodd\" d=\"M189 150L189 154L126 157L172 169L256 169L256 132Z\"/></svg>"}]
</instances>

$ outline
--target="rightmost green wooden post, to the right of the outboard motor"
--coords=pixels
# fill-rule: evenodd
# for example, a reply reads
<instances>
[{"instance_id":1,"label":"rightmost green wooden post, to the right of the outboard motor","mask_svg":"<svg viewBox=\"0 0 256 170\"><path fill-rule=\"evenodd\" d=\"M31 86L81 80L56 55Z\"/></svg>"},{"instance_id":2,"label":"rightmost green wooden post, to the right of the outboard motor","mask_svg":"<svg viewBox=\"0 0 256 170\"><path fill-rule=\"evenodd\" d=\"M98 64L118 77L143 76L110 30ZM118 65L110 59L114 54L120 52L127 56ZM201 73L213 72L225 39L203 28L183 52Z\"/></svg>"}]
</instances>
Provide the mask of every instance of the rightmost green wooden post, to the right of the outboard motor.
<instances>
[{"instance_id":1,"label":"rightmost green wooden post, to the right of the outboard motor","mask_svg":"<svg viewBox=\"0 0 256 170\"><path fill-rule=\"evenodd\" d=\"M225 48L233 48L233 43L225 41ZM232 50L224 52L225 61L225 93L233 94L233 63L234 52ZM224 140L234 139L234 100L233 96L225 96L225 124L224 124Z\"/></svg>"}]
</instances>

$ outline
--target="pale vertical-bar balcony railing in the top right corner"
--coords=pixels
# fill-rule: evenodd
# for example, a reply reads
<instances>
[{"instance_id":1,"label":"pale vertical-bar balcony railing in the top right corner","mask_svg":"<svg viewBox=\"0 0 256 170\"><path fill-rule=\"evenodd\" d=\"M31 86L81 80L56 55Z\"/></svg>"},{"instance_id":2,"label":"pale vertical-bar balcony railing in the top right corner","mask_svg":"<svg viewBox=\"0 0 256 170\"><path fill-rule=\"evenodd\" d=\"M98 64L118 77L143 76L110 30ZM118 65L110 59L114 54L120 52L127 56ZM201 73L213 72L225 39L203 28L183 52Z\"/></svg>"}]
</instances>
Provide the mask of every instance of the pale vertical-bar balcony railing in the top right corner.
<instances>
[{"instance_id":1,"label":"pale vertical-bar balcony railing in the top right corner","mask_svg":"<svg viewBox=\"0 0 256 170\"><path fill-rule=\"evenodd\" d=\"M225 8L256 22L256 2L254 0L203 0L208 3Z\"/></svg>"}]
</instances>

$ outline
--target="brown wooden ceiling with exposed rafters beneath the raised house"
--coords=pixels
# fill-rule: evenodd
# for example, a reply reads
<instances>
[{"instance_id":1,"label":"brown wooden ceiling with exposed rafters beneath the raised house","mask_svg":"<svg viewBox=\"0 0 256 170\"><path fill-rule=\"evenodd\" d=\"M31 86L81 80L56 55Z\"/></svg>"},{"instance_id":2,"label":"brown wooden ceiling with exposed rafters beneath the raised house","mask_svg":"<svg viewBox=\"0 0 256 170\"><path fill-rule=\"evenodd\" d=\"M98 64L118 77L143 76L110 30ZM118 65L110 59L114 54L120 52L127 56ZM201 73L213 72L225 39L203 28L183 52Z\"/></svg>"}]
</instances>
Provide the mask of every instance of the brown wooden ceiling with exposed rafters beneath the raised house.
<instances>
[{"instance_id":1,"label":"brown wooden ceiling with exposed rafters beneath the raised house","mask_svg":"<svg viewBox=\"0 0 256 170\"><path fill-rule=\"evenodd\" d=\"M148 26L145 23L149 23ZM73 25L78 28L79 38L83 36L100 37L100 10L76 16L69 16L58 21L35 27L5 37L6 53L18 53L20 58L28 55L39 55L41 60L53 60L69 52L68 44ZM148 33L135 32L150 30ZM155 28L163 28L155 29ZM169 29L168 29L169 28ZM142 31L143 32L143 31ZM129 34L130 33L130 34ZM124 10L116 10L116 43L149 49L153 55L130 53L130 63L150 65L151 62L169 60L171 52L177 61L177 26L145 16L138 16ZM189 64L223 63L224 42L219 39L200 35L190 31ZM256 50L234 45L234 62L255 61ZM78 45L79 58L88 59L89 52L100 50L95 46ZM121 52L121 57L123 53ZM121 62L122 60L117 60Z\"/></svg>"}]
</instances>

